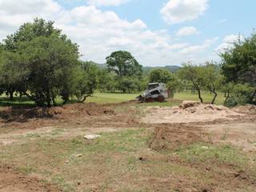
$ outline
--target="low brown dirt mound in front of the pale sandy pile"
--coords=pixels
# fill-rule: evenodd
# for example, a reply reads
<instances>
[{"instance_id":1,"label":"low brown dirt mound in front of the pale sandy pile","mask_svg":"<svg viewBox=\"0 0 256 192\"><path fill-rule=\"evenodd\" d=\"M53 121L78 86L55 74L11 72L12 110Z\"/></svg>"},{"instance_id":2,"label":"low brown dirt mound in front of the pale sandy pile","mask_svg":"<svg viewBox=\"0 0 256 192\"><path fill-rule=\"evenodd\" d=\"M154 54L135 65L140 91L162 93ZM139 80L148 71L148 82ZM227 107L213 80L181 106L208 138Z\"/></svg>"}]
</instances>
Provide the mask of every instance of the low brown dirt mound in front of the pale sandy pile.
<instances>
[{"instance_id":1,"label":"low brown dirt mound in front of the pale sandy pile","mask_svg":"<svg viewBox=\"0 0 256 192\"><path fill-rule=\"evenodd\" d=\"M175 150L180 146L188 146L193 142L202 142L201 130L196 126L182 124L162 124L154 129L150 140L153 150Z\"/></svg>"}]
</instances>

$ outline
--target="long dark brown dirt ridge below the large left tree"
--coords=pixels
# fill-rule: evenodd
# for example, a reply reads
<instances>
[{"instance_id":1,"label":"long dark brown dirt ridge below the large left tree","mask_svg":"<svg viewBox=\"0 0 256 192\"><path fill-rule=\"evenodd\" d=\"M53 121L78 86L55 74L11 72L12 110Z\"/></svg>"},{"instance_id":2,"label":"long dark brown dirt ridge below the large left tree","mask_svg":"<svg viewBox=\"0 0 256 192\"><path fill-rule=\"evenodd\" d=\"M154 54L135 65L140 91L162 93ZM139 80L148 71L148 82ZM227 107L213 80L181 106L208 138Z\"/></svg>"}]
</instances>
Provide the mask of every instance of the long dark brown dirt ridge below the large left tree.
<instances>
[{"instance_id":1,"label":"long dark brown dirt ridge below the large left tree","mask_svg":"<svg viewBox=\"0 0 256 192\"><path fill-rule=\"evenodd\" d=\"M63 107L54 106L51 108L34 107L34 108L12 108L4 107L0 110L0 121L6 122L26 122L30 118L66 118L67 116L78 115L100 115L114 114L110 106L104 106L96 103L76 103Z\"/></svg>"}]
</instances>

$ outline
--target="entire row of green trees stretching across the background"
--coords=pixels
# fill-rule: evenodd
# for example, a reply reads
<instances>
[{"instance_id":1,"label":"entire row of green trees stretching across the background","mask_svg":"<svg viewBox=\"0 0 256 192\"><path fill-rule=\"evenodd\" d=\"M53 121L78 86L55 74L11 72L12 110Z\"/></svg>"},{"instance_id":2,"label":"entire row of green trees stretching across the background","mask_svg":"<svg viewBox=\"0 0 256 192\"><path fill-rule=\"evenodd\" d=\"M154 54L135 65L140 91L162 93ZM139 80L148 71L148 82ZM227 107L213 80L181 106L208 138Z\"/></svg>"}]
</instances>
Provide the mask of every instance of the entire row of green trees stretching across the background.
<instances>
[{"instance_id":1,"label":"entire row of green trees stretching across the background","mask_svg":"<svg viewBox=\"0 0 256 192\"><path fill-rule=\"evenodd\" d=\"M10 100L14 94L26 96L38 106L52 106L56 98L63 103L70 98L84 102L94 90L122 91L145 90L148 82L164 82L174 94L179 90L213 94L212 103L219 91L226 93L226 105L254 103L256 94L256 34L239 40L221 54L222 62L201 65L184 63L171 73L154 69L142 73L142 66L127 51L116 51L106 57L107 68L94 62L82 62L78 45L54 22L35 19L25 23L0 44L0 94Z\"/></svg>"}]
</instances>

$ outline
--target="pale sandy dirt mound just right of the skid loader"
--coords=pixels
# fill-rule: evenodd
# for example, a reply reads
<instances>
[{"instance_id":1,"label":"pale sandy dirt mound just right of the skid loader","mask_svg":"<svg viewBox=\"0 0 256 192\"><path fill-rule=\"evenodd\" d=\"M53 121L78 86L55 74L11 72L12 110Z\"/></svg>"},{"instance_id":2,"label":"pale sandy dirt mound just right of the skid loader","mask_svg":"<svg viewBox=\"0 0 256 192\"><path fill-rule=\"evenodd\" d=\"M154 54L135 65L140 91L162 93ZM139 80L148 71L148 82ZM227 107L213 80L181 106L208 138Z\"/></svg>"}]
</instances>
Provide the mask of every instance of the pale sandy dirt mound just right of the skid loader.
<instances>
[{"instance_id":1,"label":"pale sandy dirt mound just right of the skid loader","mask_svg":"<svg viewBox=\"0 0 256 192\"><path fill-rule=\"evenodd\" d=\"M225 106L216 106L199 102L182 102L180 106L150 108L142 122L146 123L190 123L232 120L242 117Z\"/></svg>"}]
</instances>

